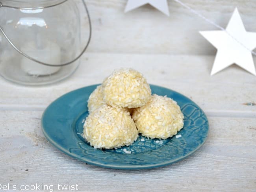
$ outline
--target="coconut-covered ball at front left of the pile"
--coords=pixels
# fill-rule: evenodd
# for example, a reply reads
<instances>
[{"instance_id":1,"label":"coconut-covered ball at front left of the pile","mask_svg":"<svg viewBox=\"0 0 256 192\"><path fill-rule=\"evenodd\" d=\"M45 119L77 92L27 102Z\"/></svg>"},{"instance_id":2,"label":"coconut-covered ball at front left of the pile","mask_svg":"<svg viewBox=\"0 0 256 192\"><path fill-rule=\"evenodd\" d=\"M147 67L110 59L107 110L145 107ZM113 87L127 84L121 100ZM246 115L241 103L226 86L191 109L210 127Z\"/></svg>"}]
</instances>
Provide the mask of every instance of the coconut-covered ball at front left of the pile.
<instances>
[{"instance_id":1,"label":"coconut-covered ball at front left of the pile","mask_svg":"<svg viewBox=\"0 0 256 192\"><path fill-rule=\"evenodd\" d=\"M128 111L106 104L92 111L83 125L83 138L94 148L128 146L137 137L138 130Z\"/></svg>"}]
</instances>

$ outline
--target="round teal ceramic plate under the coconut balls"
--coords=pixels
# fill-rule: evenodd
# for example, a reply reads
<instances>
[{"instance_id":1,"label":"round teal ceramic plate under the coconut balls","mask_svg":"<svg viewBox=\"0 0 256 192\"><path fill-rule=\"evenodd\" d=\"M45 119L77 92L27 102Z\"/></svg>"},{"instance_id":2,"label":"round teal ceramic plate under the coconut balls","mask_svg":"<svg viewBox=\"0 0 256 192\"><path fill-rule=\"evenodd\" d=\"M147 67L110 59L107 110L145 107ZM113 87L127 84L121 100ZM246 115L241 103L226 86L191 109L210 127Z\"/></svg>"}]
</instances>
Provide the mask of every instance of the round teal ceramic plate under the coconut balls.
<instances>
[{"instance_id":1,"label":"round teal ceramic plate under the coconut balls","mask_svg":"<svg viewBox=\"0 0 256 192\"><path fill-rule=\"evenodd\" d=\"M198 150L208 135L208 120L202 109L189 98L170 89L150 85L152 93L173 98L184 114L181 137L166 140L142 137L134 144L117 150L98 150L82 137L83 122L88 115L87 100L97 85L69 92L45 110L42 129L45 137L64 153L104 168L145 169L165 166L184 159ZM128 154L127 151L131 153Z\"/></svg>"}]
</instances>

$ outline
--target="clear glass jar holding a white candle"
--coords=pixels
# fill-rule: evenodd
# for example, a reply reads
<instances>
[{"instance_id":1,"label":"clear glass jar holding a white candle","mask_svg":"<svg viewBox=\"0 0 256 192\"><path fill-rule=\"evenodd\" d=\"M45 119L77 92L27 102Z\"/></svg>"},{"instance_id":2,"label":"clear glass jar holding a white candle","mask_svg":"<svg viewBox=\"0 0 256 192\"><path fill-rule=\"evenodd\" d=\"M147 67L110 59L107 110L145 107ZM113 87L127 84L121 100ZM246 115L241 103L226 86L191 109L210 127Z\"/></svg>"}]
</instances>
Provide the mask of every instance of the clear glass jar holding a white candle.
<instances>
[{"instance_id":1,"label":"clear glass jar holding a white candle","mask_svg":"<svg viewBox=\"0 0 256 192\"><path fill-rule=\"evenodd\" d=\"M89 19L86 5L85 10ZM23 85L70 76L91 37L89 20L81 51L80 13L73 0L0 0L0 18L0 75Z\"/></svg>"}]
</instances>

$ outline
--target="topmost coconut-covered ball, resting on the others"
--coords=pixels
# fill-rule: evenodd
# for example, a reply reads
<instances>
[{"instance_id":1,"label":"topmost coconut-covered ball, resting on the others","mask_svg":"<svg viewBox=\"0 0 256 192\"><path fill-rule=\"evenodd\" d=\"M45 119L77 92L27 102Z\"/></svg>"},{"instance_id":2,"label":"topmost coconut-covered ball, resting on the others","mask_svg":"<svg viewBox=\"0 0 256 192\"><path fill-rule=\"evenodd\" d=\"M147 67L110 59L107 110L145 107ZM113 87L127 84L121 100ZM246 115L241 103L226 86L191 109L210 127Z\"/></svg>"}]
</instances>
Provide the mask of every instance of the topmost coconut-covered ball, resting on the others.
<instances>
[{"instance_id":1,"label":"topmost coconut-covered ball, resting on the others","mask_svg":"<svg viewBox=\"0 0 256 192\"><path fill-rule=\"evenodd\" d=\"M103 97L108 105L136 108L150 100L151 89L141 73L121 68L104 80Z\"/></svg>"}]
</instances>

